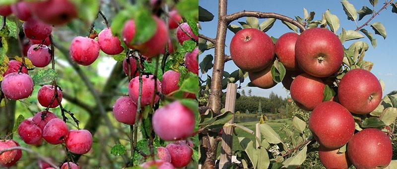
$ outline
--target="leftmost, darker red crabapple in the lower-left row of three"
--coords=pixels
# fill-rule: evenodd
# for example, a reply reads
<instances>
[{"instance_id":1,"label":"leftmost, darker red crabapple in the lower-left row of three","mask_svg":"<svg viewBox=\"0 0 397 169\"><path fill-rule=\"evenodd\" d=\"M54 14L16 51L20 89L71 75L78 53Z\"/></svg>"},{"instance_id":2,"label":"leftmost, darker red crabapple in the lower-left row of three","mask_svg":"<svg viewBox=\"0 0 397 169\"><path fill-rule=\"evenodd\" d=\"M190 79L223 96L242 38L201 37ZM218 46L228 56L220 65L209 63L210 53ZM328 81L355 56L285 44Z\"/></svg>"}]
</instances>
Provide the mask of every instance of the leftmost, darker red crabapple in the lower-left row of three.
<instances>
[{"instance_id":1,"label":"leftmost, darker red crabapple in the lower-left row of three","mask_svg":"<svg viewBox=\"0 0 397 169\"><path fill-rule=\"evenodd\" d=\"M41 128L32 120L26 119L18 126L18 134L26 144L34 144L41 139Z\"/></svg>"}]
</instances>

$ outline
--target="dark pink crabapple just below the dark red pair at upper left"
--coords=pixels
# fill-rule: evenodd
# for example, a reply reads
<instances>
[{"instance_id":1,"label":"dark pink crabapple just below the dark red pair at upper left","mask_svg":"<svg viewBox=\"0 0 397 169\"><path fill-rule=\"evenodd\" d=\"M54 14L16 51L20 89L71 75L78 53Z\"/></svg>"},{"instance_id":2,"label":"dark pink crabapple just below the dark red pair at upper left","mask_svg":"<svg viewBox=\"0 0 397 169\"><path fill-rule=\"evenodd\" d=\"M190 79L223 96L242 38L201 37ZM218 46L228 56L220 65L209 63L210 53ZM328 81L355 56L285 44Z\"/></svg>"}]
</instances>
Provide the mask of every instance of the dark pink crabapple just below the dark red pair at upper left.
<instances>
[{"instance_id":1,"label":"dark pink crabapple just below the dark red pair at upper left","mask_svg":"<svg viewBox=\"0 0 397 169\"><path fill-rule=\"evenodd\" d=\"M28 58L36 67L46 67L51 62L51 50L46 45L33 44L28 50Z\"/></svg>"}]
</instances>

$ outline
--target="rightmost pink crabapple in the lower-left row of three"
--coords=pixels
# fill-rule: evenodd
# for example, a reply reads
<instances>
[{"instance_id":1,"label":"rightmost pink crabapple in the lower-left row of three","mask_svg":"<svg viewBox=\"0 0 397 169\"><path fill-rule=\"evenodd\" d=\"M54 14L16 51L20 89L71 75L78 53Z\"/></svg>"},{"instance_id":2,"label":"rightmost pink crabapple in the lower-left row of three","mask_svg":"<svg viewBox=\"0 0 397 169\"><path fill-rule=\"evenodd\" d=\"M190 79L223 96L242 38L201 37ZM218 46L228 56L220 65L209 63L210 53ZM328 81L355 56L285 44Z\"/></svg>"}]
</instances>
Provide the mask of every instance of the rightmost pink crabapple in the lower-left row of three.
<instances>
[{"instance_id":1,"label":"rightmost pink crabapple in the lower-left row of three","mask_svg":"<svg viewBox=\"0 0 397 169\"><path fill-rule=\"evenodd\" d=\"M92 134L85 129L72 129L66 137L66 148L74 154L86 154L92 147Z\"/></svg>"}]
</instances>

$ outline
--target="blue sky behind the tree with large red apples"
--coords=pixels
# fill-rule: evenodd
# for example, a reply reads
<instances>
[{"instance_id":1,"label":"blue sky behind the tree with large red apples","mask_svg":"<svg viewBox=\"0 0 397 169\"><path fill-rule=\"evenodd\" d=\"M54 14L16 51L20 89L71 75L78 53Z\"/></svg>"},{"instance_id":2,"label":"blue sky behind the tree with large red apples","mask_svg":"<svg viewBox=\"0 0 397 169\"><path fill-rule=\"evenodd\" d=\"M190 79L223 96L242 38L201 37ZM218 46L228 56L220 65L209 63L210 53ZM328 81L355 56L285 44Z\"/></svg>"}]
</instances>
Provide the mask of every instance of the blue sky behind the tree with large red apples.
<instances>
[{"instance_id":1,"label":"blue sky behind the tree with large red apples","mask_svg":"<svg viewBox=\"0 0 397 169\"><path fill-rule=\"evenodd\" d=\"M379 0L378 4L375 6L375 10L378 11L383 6L383 0ZM372 8L369 0L350 0L350 3L354 5L356 10L361 9L362 6L366 5ZM201 30L199 30L200 34L203 34L210 38L216 37L216 27L217 27L217 15L218 15L218 1L217 0L199 0L199 5L208 11L210 11L215 17L210 22L200 22ZM315 11L316 15L314 20L321 20L322 13L324 13L327 9L330 9L332 14L338 16L340 21L340 28L336 32L338 35L341 33L342 28L345 30L354 30L356 25L353 21L347 20L347 16L343 11L342 4L338 0L302 0L297 2L296 0L229 0L227 7L227 14L231 14L234 12L242 11L242 10L254 10L261 12L275 12L279 14L283 14L294 18L294 16L301 16L303 18L303 8L306 8L309 12ZM365 16L362 20L358 21L358 25L364 24L370 15ZM259 23L262 23L265 19L260 19ZM397 13L392 13L392 7L388 7L380 12L378 16L376 16L369 24L374 22L381 22L387 32L386 40L383 39L382 36L375 35L374 31L370 26L365 26L369 32L374 34L374 38L377 39L377 47L373 48L371 42L364 35L365 38L360 39L361 41L367 42L370 47L365 52L364 60L368 60L374 63L374 66L371 72L378 78L382 79L385 82L385 91L384 95L387 93L397 90ZM246 21L246 18L240 18L238 21ZM240 25L237 21L232 22L232 24ZM284 33L293 32L288 29L281 21L276 21L273 27L266 32L267 35L273 36L275 38L280 37ZM225 53L230 55L229 52L229 44L233 37L234 33L230 30L227 30L226 35L226 48ZM347 48L351 42L356 42L357 40L345 42L344 45ZM202 61L202 58L207 55L214 55L214 49L210 49L199 55L199 62ZM225 64L225 71L231 73L234 70L237 70L238 67L232 62L228 61ZM200 73L201 74L201 73ZM208 72L208 75L212 75L212 71ZM205 76L202 76L205 77ZM244 89L246 92L249 89L252 89L252 94L257 96L265 96L267 97L271 91L274 93L281 95L282 97L286 97L288 95L285 88L283 88L282 84L279 83L276 86L270 89L261 89L259 87L248 87L247 84L250 82L247 77L245 82L241 85L242 88L238 89L241 91Z\"/></svg>"}]
</instances>

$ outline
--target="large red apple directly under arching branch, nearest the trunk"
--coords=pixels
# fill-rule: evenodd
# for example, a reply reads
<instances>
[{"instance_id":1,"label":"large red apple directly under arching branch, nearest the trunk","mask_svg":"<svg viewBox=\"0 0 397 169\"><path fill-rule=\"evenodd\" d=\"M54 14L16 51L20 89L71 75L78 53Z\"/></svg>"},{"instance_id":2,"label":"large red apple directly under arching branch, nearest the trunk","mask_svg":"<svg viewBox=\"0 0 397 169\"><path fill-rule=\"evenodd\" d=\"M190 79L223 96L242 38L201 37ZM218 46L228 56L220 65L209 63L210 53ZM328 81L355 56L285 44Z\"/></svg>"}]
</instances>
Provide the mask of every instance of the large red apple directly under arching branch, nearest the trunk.
<instances>
[{"instance_id":1,"label":"large red apple directly under arching branch, nearest the trunk","mask_svg":"<svg viewBox=\"0 0 397 169\"><path fill-rule=\"evenodd\" d=\"M246 28L234 35L230 42L233 62L243 71L259 72L271 64L274 44L264 32Z\"/></svg>"}]
</instances>

